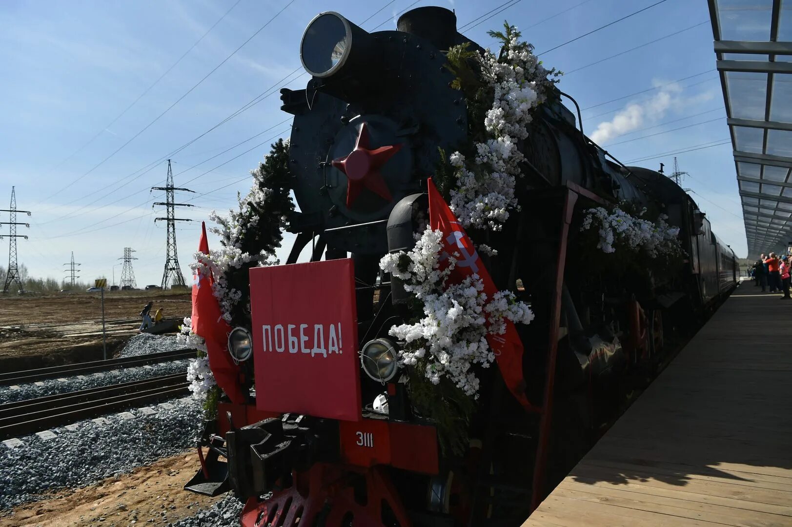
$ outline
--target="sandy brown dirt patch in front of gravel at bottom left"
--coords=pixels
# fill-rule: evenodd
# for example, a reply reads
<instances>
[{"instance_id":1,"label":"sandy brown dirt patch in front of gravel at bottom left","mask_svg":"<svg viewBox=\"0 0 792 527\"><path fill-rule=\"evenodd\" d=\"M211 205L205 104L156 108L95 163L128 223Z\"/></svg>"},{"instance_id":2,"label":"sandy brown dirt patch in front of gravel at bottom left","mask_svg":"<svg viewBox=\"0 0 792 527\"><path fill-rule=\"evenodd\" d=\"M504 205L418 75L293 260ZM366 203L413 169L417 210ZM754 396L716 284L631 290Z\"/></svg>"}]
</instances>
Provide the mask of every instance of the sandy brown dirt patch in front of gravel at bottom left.
<instances>
[{"instance_id":1,"label":"sandy brown dirt patch in front of gravel at bottom left","mask_svg":"<svg viewBox=\"0 0 792 527\"><path fill-rule=\"evenodd\" d=\"M168 457L128 475L18 506L13 516L0 516L0 527L167 525L192 516L199 508L205 509L219 500L182 488L199 468L194 450Z\"/></svg>"}]
</instances>

